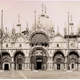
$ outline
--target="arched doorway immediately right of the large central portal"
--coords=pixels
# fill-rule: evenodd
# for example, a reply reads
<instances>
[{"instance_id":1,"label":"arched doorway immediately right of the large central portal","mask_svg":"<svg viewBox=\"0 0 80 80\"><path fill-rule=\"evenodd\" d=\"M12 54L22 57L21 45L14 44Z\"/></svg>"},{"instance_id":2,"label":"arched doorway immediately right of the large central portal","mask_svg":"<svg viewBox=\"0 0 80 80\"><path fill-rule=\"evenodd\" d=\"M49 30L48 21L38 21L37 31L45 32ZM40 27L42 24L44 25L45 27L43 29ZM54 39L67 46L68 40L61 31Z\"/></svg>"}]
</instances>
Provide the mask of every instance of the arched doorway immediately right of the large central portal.
<instances>
[{"instance_id":1,"label":"arched doorway immediately right of the large central portal","mask_svg":"<svg viewBox=\"0 0 80 80\"><path fill-rule=\"evenodd\" d=\"M64 70L65 57L61 51L57 51L53 56L53 65L55 70Z\"/></svg>"}]
</instances>

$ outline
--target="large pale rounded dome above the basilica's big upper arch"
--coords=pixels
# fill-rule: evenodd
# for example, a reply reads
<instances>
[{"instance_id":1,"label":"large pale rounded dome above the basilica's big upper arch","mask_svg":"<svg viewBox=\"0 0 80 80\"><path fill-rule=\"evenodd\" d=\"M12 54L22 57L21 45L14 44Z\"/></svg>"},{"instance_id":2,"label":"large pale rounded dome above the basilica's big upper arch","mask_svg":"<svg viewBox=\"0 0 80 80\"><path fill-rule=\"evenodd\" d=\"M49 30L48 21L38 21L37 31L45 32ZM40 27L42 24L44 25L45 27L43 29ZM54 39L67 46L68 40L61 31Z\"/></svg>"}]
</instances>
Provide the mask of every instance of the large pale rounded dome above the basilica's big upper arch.
<instances>
[{"instance_id":1,"label":"large pale rounded dome above the basilica's big upper arch","mask_svg":"<svg viewBox=\"0 0 80 80\"><path fill-rule=\"evenodd\" d=\"M43 15L41 14L40 18L36 20L36 26L40 26L42 29L45 29L45 30L54 28L52 21L49 19L49 16L46 13L45 13L45 16ZM36 28L35 23L33 23L32 29L35 29L35 28Z\"/></svg>"}]
</instances>

